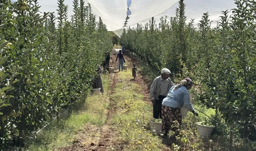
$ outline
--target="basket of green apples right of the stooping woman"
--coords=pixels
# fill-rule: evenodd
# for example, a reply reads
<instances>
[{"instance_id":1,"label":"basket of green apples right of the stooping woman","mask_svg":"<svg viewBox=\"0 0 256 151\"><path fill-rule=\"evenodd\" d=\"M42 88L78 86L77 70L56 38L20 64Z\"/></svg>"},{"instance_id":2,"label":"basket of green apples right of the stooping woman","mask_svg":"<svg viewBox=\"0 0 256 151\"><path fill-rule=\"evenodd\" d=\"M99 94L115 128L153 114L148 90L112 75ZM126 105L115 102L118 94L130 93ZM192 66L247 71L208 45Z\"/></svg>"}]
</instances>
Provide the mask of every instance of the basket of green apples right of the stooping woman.
<instances>
[{"instance_id":1,"label":"basket of green apples right of the stooping woman","mask_svg":"<svg viewBox=\"0 0 256 151\"><path fill-rule=\"evenodd\" d=\"M215 128L215 126L209 120L196 122L196 127L197 131L199 132L199 136L201 137L210 137L213 129Z\"/></svg>"}]
</instances>

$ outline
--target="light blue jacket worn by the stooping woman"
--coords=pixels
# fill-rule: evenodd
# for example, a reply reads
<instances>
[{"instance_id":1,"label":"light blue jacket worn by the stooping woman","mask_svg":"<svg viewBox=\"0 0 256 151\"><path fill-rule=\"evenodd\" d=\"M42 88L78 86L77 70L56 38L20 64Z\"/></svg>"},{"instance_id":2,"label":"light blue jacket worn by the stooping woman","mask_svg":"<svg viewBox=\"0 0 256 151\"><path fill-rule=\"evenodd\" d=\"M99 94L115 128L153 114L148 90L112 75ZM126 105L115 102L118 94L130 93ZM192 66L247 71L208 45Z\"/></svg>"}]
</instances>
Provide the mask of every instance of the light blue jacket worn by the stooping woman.
<instances>
[{"instance_id":1,"label":"light blue jacket worn by the stooping woman","mask_svg":"<svg viewBox=\"0 0 256 151\"><path fill-rule=\"evenodd\" d=\"M171 87L167 97L163 99L162 105L173 108L182 108L185 105L189 111L192 111L193 107L190 102L190 96L187 88L185 86L181 86L180 88L173 90L175 86L176 85Z\"/></svg>"}]
</instances>

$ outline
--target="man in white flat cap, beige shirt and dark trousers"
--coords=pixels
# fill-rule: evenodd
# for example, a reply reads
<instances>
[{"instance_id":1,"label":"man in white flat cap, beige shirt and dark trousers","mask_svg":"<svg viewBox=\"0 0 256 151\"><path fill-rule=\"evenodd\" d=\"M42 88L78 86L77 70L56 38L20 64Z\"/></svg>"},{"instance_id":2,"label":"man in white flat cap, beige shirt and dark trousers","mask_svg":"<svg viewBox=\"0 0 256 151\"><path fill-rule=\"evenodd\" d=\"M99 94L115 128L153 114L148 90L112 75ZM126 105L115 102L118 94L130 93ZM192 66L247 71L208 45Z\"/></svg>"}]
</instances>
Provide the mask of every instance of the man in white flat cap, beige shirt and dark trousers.
<instances>
[{"instance_id":1,"label":"man in white flat cap, beige shirt and dark trousers","mask_svg":"<svg viewBox=\"0 0 256 151\"><path fill-rule=\"evenodd\" d=\"M168 91L173 86L169 78L171 71L167 68L161 70L161 75L156 77L150 88L150 98L153 103L153 117L162 118L162 101L167 96Z\"/></svg>"}]
</instances>

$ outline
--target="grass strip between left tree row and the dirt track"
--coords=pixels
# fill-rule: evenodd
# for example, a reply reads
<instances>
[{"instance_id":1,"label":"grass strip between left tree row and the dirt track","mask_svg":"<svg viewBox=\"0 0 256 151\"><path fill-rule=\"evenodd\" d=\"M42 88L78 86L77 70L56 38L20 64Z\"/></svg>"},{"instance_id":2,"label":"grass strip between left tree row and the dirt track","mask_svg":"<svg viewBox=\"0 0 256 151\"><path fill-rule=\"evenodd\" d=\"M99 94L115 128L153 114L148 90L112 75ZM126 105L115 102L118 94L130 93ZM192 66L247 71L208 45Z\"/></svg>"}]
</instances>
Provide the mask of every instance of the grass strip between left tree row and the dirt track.
<instances>
[{"instance_id":1,"label":"grass strip between left tree row and the dirt track","mask_svg":"<svg viewBox=\"0 0 256 151\"><path fill-rule=\"evenodd\" d=\"M67 119L56 120L46 127L29 145L29 151L49 151L68 146L85 124L102 126L109 106L110 79L102 75L104 95L89 95L79 111L73 111Z\"/></svg>"}]
</instances>

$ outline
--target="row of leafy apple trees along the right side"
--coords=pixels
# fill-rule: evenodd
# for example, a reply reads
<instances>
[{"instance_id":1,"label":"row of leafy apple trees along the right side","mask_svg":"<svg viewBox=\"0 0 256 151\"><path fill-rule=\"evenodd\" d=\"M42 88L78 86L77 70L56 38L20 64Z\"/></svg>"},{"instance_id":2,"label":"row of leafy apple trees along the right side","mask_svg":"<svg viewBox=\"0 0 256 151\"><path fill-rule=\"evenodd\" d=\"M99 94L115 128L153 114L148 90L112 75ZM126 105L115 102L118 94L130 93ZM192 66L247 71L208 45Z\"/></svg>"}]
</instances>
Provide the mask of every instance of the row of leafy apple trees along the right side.
<instances>
[{"instance_id":1,"label":"row of leafy apple trees along the right side","mask_svg":"<svg viewBox=\"0 0 256 151\"><path fill-rule=\"evenodd\" d=\"M211 28L204 13L198 27L185 23L185 5L176 15L123 32L121 44L152 67L169 68L201 86L204 106L221 113L240 137L256 140L256 1L234 1ZM229 18L230 17L230 18Z\"/></svg>"}]
</instances>

